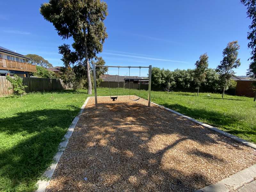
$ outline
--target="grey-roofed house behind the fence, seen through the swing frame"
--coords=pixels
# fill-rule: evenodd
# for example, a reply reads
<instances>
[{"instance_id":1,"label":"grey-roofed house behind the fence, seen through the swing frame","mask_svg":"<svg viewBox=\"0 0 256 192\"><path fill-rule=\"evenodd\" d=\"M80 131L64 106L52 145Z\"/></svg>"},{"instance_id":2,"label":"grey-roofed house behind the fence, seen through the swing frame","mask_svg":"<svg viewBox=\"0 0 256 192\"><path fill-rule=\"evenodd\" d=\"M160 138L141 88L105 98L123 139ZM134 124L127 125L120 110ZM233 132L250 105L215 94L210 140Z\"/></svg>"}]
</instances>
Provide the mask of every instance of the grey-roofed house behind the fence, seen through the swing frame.
<instances>
[{"instance_id":1,"label":"grey-roofed house behind the fence, seen through the swing frame","mask_svg":"<svg viewBox=\"0 0 256 192\"><path fill-rule=\"evenodd\" d=\"M118 75L101 75L103 82L126 82L133 84L148 84L148 77L138 77L138 76L118 76Z\"/></svg>"}]
</instances>

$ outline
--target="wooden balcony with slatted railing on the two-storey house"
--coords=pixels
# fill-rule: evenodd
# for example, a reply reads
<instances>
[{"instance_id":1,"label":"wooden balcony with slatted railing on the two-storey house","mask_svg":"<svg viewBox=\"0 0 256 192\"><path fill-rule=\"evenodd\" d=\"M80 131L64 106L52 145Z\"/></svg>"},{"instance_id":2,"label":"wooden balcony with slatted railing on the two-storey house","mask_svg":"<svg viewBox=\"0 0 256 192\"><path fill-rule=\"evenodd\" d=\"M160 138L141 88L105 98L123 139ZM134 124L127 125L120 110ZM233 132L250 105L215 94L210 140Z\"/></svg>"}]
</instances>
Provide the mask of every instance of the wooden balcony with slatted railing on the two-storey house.
<instances>
[{"instance_id":1,"label":"wooden balcony with slatted railing on the two-storey house","mask_svg":"<svg viewBox=\"0 0 256 192\"><path fill-rule=\"evenodd\" d=\"M36 66L28 63L21 63L18 61L12 61L12 60L0 58L0 69L35 72Z\"/></svg>"}]
</instances>

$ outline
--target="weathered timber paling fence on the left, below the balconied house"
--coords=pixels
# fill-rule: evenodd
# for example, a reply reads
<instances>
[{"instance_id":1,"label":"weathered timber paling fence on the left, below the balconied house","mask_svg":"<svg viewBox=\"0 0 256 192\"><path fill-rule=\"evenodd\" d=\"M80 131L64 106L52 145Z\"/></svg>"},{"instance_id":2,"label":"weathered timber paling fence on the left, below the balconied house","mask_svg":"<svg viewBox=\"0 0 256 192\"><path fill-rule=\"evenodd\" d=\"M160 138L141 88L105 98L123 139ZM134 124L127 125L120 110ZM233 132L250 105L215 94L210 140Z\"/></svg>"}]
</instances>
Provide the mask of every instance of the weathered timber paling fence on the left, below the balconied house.
<instances>
[{"instance_id":1,"label":"weathered timber paling fence on the left, below the balconied house","mask_svg":"<svg viewBox=\"0 0 256 192\"><path fill-rule=\"evenodd\" d=\"M53 78L34 78L34 77L22 77L23 85L27 85L25 92L40 92L40 91L58 91L69 89L61 79ZM12 95L13 90L8 90L8 87L12 87L12 84L5 78L0 76L0 97L5 95Z\"/></svg>"}]
</instances>

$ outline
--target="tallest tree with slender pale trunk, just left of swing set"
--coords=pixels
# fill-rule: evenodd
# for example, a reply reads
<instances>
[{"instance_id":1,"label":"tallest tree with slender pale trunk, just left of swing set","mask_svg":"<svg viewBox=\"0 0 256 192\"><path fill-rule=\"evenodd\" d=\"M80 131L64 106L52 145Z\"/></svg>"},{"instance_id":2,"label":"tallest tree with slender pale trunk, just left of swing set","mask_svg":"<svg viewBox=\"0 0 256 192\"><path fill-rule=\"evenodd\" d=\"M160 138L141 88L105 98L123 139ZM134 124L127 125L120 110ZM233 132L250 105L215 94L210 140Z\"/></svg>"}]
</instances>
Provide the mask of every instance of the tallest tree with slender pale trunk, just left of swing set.
<instances>
[{"instance_id":1,"label":"tallest tree with slender pale trunk, just left of swing set","mask_svg":"<svg viewBox=\"0 0 256 192\"><path fill-rule=\"evenodd\" d=\"M89 60L102 52L107 38L103 23L108 15L107 4L101 0L50 0L41 5L40 12L63 39L73 37L76 62L86 66L88 94L92 94Z\"/></svg>"}]
</instances>

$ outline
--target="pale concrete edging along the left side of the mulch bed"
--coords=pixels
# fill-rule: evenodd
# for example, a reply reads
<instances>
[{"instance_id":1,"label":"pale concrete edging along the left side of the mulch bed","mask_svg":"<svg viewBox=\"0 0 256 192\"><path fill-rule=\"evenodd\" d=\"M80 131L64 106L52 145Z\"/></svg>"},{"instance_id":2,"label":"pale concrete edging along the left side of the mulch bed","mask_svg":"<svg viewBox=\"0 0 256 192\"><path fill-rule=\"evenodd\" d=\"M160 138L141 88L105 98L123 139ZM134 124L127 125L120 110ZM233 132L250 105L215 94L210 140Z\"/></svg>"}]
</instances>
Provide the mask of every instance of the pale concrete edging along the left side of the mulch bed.
<instances>
[{"instance_id":1,"label":"pale concrete edging along the left side of the mulch bed","mask_svg":"<svg viewBox=\"0 0 256 192\"><path fill-rule=\"evenodd\" d=\"M69 138L71 137L73 131L74 131L74 128L76 127L76 124L79 120L79 117L81 116L81 114L83 113L84 111L84 107L86 106L88 100L90 99L91 97L87 97L87 99L84 101L84 104L82 105L81 107L81 110L80 112L78 113L78 115L74 118L74 120L72 121L72 124L69 126L68 128L68 131L67 133L64 135L63 137L63 141L59 144L59 150L58 152L55 154L55 156L53 157L53 159L55 160L54 163L51 164L50 166L50 169L47 169L45 172L44 172L44 176L47 178L45 180L39 180L37 181L36 185L38 185L38 188L35 192L44 192L45 188L47 185L49 185L49 180L51 179L52 177L52 174L53 172L55 171L56 169L56 166L60 160L60 157L61 155L63 154L65 148L67 147L68 145L68 140Z\"/></svg>"}]
</instances>

